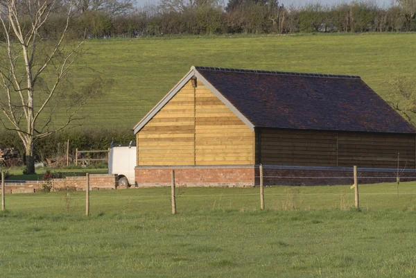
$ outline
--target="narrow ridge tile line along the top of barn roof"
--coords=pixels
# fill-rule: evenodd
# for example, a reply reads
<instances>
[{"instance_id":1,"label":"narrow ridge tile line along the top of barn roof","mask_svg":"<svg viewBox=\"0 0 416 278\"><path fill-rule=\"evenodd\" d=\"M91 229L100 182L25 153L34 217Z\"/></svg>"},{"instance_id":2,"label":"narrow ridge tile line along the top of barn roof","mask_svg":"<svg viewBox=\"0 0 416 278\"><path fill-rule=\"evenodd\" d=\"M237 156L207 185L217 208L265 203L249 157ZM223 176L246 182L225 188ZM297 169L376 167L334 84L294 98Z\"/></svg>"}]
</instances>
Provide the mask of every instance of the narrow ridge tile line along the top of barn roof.
<instances>
[{"instance_id":1,"label":"narrow ridge tile line along the top of barn roof","mask_svg":"<svg viewBox=\"0 0 416 278\"><path fill-rule=\"evenodd\" d=\"M326 73L300 73L300 72L287 72L287 71L261 71L257 69L230 69L223 67L197 67L195 69L205 71L227 71L227 72L239 72L239 73L260 73L260 74L271 74L279 76L305 76L305 77L324 77L324 78L352 78L361 79L360 76L348 76L342 74L326 74Z\"/></svg>"}]
</instances>

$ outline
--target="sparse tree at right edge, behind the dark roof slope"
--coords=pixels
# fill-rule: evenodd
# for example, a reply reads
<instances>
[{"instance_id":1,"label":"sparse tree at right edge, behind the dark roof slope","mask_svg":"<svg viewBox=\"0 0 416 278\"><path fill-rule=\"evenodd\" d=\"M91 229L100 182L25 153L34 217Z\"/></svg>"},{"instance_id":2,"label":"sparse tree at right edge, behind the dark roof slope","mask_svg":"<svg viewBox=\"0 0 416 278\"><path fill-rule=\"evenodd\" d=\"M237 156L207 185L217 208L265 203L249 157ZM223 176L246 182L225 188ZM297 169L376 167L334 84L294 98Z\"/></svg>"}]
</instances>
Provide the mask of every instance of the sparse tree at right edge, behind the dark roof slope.
<instances>
[{"instance_id":1,"label":"sparse tree at right edge, behind the dark roof slope","mask_svg":"<svg viewBox=\"0 0 416 278\"><path fill-rule=\"evenodd\" d=\"M390 105L416 126L416 81L408 76L394 76L388 81Z\"/></svg>"}]
</instances>

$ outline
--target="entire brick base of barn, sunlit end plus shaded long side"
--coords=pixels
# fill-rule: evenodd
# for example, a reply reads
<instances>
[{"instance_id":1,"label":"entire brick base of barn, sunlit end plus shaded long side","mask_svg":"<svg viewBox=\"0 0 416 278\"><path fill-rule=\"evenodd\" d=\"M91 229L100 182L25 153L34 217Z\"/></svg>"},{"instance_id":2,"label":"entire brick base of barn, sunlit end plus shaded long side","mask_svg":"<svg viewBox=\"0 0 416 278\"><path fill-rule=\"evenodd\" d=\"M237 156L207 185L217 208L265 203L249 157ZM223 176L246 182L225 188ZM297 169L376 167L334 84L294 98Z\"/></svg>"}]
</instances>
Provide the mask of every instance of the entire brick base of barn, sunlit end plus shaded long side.
<instances>
[{"instance_id":1,"label":"entire brick base of barn, sunlit end plus shaded long side","mask_svg":"<svg viewBox=\"0 0 416 278\"><path fill-rule=\"evenodd\" d=\"M175 170L176 186L246 187L260 184L259 166L137 166L138 187L171 186ZM399 170L400 181L416 180L416 170ZM358 184L395 182L397 169L358 168ZM263 166L263 184L273 185L336 185L354 184L352 167Z\"/></svg>"}]
</instances>

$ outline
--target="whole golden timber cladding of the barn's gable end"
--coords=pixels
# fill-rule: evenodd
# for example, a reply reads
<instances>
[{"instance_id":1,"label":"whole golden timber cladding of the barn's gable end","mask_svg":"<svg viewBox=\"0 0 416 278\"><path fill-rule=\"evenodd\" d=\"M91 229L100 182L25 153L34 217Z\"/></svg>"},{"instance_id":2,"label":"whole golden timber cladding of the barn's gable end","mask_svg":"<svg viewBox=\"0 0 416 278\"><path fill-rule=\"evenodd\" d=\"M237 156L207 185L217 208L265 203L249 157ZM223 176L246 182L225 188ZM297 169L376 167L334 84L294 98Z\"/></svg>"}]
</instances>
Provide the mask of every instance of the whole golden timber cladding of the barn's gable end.
<instances>
[{"instance_id":1,"label":"whole golden timber cladding of the barn's gable end","mask_svg":"<svg viewBox=\"0 0 416 278\"><path fill-rule=\"evenodd\" d=\"M254 132L191 80L136 134L137 165L254 164Z\"/></svg>"}]
</instances>

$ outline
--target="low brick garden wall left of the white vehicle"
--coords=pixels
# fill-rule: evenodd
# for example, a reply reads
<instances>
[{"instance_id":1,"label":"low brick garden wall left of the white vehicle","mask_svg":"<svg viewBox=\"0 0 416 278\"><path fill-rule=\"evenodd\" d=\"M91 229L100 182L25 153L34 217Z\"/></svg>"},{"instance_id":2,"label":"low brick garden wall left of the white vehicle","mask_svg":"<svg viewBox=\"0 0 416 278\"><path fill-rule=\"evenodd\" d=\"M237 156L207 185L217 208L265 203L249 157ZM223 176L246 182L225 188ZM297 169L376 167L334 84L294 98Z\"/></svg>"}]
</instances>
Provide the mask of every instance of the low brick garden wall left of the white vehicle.
<instances>
[{"instance_id":1,"label":"low brick garden wall left of the white vehicle","mask_svg":"<svg viewBox=\"0 0 416 278\"><path fill-rule=\"evenodd\" d=\"M42 181L6 181L6 194L34 193L40 190ZM52 180L52 191L58 191L65 187L75 187L76 190L85 190L87 177L66 177L64 179ZM119 177L112 174L91 174L89 175L89 186L91 190L116 189L119 184ZM0 193L1 194L1 193Z\"/></svg>"}]
</instances>

